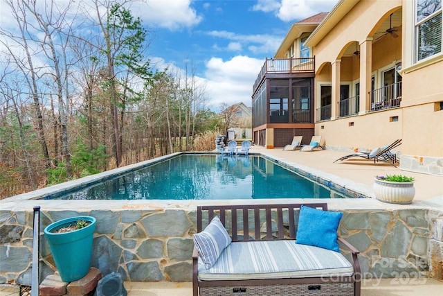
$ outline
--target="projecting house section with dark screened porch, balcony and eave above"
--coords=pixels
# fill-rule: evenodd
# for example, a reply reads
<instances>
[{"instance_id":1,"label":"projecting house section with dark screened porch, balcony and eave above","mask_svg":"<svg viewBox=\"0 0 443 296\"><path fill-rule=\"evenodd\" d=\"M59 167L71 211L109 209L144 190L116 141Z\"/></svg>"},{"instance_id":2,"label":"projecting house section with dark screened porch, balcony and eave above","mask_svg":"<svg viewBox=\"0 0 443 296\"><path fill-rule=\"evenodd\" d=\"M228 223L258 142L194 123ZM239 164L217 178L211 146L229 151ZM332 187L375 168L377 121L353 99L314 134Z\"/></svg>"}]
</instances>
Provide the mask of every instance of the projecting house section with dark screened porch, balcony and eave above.
<instances>
[{"instance_id":1,"label":"projecting house section with dark screened porch, balcony and eave above","mask_svg":"<svg viewBox=\"0 0 443 296\"><path fill-rule=\"evenodd\" d=\"M326 15L293 24L274 58L266 58L253 85L254 143L283 147L295 135L302 143L314 135L315 58L305 40Z\"/></svg>"}]
</instances>

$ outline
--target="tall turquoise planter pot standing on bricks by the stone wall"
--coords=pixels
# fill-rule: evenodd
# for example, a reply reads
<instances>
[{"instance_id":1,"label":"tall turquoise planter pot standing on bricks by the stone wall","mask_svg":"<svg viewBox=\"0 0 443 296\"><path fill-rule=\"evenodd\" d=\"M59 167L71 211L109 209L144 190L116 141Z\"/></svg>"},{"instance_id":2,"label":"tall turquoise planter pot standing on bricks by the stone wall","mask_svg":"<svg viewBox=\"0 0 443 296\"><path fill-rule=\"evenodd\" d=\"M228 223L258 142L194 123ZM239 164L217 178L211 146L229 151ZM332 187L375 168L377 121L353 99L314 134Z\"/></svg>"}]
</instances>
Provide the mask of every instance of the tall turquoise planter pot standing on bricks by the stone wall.
<instances>
[{"instance_id":1,"label":"tall turquoise planter pot standing on bricks by the stone wall","mask_svg":"<svg viewBox=\"0 0 443 296\"><path fill-rule=\"evenodd\" d=\"M89 221L90 224L73 232L53 233L57 229L75 224L78 220ZM63 219L44 229L44 235L51 247L55 266L62 281L77 281L89 272L94 229L96 229L96 218L89 216Z\"/></svg>"}]
</instances>

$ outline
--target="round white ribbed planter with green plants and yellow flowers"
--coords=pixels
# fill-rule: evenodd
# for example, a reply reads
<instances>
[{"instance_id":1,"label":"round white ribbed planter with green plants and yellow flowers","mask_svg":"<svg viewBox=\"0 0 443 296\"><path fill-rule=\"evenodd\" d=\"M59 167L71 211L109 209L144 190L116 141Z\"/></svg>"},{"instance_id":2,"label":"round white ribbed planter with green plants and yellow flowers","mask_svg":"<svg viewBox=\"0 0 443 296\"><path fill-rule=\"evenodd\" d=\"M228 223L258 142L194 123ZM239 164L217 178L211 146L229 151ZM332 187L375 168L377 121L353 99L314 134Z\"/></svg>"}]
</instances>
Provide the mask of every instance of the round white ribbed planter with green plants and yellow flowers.
<instances>
[{"instance_id":1,"label":"round white ribbed planter with green plants and yellow flowers","mask_svg":"<svg viewBox=\"0 0 443 296\"><path fill-rule=\"evenodd\" d=\"M415 196L414 178L405 175L386 175L374 178L377 200L394 204L410 204Z\"/></svg>"}]
</instances>

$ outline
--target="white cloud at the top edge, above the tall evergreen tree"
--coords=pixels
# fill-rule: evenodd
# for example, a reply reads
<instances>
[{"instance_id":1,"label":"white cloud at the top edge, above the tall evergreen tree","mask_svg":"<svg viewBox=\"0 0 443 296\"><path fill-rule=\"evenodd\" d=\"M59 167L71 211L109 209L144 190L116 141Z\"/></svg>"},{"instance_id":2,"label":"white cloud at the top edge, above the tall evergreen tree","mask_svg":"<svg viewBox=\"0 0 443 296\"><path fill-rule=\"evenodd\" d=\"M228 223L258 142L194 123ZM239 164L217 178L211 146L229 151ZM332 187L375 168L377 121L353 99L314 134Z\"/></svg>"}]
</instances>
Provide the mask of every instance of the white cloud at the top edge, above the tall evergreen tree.
<instances>
[{"instance_id":1,"label":"white cloud at the top edge, above the tall evergreen tree","mask_svg":"<svg viewBox=\"0 0 443 296\"><path fill-rule=\"evenodd\" d=\"M190 7L191 0L147 0L145 3L135 3L134 6L141 19L151 26L177 30L196 26L203 19Z\"/></svg>"}]
</instances>

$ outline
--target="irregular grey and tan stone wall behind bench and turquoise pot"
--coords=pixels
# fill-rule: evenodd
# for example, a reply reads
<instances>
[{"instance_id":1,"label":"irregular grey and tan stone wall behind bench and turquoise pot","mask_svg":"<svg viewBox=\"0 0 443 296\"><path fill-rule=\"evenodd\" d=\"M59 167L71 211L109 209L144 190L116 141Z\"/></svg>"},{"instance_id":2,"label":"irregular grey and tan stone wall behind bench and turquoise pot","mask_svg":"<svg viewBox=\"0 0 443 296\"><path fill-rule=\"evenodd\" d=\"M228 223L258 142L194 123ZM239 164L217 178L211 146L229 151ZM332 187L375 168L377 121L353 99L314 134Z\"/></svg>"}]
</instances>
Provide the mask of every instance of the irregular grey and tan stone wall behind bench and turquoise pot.
<instances>
[{"instance_id":1,"label":"irregular grey and tan stone wall behind bench and turquoise pot","mask_svg":"<svg viewBox=\"0 0 443 296\"><path fill-rule=\"evenodd\" d=\"M442 212L428 209L347 210L339 232L359 255L362 276L429 276L428 241ZM42 211L40 278L55 272L43 229L71 216L96 217L91 265L125 281L192 281L196 214L186 209ZM313 221L315 223L315 221ZM250 223L253 225L253 223ZM0 284L30 285L33 211L0 210ZM345 256L349 256L343 250Z\"/></svg>"}]
</instances>

